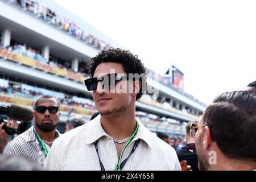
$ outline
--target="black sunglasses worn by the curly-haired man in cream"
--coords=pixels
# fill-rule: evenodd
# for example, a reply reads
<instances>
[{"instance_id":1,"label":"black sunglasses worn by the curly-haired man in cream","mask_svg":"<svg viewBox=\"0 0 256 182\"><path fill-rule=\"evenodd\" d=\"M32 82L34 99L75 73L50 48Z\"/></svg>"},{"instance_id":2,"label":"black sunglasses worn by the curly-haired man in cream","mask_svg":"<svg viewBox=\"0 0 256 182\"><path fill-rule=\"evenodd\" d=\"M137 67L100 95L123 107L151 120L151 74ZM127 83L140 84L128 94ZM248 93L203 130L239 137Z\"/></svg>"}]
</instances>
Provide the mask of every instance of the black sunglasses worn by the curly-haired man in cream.
<instances>
[{"instance_id":1,"label":"black sunglasses worn by the curly-haired man in cream","mask_svg":"<svg viewBox=\"0 0 256 182\"><path fill-rule=\"evenodd\" d=\"M103 75L100 78L88 78L84 81L84 84L88 91L96 90L98 82L100 81L104 88L109 88L117 84L117 82L121 80L128 80L127 76L119 76L117 73L109 73L107 75Z\"/></svg>"}]
</instances>

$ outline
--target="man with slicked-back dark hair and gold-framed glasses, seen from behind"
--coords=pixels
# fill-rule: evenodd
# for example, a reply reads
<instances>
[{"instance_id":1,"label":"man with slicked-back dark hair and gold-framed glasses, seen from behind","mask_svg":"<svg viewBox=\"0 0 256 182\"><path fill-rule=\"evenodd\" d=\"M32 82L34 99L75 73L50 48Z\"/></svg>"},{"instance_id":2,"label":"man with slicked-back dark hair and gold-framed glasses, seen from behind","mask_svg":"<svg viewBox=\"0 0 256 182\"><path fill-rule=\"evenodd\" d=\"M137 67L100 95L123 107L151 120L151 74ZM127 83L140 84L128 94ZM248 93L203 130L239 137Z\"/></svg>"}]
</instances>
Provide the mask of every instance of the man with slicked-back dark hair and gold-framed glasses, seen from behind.
<instances>
[{"instance_id":1,"label":"man with slicked-back dark hair and gold-framed glasses, seen from behind","mask_svg":"<svg viewBox=\"0 0 256 182\"><path fill-rule=\"evenodd\" d=\"M200 170L256 170L256 96L222 93L192 128Z\"/></svg>"}]
</instances>

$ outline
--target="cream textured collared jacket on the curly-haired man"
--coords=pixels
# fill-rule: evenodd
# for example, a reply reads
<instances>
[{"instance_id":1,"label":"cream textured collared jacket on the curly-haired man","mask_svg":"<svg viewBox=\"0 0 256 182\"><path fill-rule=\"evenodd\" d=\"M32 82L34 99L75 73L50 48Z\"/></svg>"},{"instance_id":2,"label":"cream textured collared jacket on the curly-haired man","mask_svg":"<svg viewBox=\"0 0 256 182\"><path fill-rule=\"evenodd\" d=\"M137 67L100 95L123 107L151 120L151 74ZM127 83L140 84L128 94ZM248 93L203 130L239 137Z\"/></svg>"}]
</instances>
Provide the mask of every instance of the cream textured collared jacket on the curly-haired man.
<instances>
[{"instance_id":1,"label":"cream textured collared jacket on the curly-haired man","mask_svg":"<svg viewBox=\"0 0 256 182\"><path fill-rule=\"evenodd\" d=\"M114 141L101 126L101 115L92 121L61 135L53 143L44 167L50 170L101 170L94 146L97 141L98 154L106 171L113 171L118 163ZM129 157L123 171L130 170L181 170L174 148L151 133L139 122L137 136L123 152L122 161L129 156L134 141L141 139Z\"/></svg>"}]
</instances>

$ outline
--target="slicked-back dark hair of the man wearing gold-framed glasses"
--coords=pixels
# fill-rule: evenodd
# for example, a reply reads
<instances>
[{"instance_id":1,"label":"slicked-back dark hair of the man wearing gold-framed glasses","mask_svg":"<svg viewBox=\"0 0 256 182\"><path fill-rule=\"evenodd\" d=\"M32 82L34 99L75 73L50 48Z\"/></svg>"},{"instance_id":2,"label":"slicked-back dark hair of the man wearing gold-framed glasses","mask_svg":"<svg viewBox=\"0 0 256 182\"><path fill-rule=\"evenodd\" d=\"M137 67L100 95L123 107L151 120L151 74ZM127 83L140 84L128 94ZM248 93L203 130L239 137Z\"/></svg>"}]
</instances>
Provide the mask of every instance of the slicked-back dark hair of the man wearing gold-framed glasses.
<instances>
[{"instance_id":1,"label":"slicked-back dark hair of the man wearing gold-framed glasses","mask_svg":"<svg viewBox=\"0 0 256 182\"><path fill-rule=\"evenodd\" d=\"M256 96L246 91L222 93L203 114L212 140L228 158L256 161Z\"/></svg>"}]
</instances>

